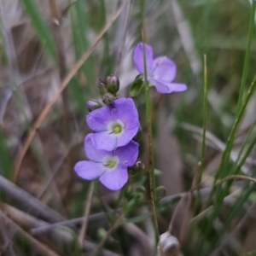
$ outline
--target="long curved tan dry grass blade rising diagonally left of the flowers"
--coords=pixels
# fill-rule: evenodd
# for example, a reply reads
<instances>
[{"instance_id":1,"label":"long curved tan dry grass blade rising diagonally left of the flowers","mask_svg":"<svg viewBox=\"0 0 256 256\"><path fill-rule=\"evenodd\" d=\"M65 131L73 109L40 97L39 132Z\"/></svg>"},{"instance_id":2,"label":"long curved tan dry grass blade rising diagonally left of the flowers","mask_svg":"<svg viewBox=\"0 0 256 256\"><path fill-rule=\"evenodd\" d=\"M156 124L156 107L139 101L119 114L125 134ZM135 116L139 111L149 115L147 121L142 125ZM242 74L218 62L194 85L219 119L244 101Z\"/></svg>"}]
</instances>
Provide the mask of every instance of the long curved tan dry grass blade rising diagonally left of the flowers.
<instances>
[{"instance_id":1,"label":"long curved tan dry grass blade rising diagonally left of the flowers","mask_svg":"<svg viewBox=\"0 0 256 256\"><path fill-rule=\"evenodd\" d=\"M108 29L112 26L113 21L117 19L119 14L121 13L122 9L124 9L125 4L128 3L129 0L126 0L122 3L120 8L117 10L115 15L113 15L112 19L109 20L108 24L102 29L102 32L100 32L93 44L90 45L90 48L82 55L82 57L79 59L79 61L74 65L73 69L70 73L68 73L67 77L63 80L61 83L61 86L59 90L55 93L55 95L51 98L51 100L48 102L48 104L44 107L43 111L39 114L38 119L36 119L34 125L32 126L32 131L30 131L28 137L26 137L25 143L23 147L20 149L20 153L18 154L18 158L15 164L15 172L14 172L14 182L16 183L17 178L19 176L20 172L20 166L22 164L22 161L26 155L26 151L29 148L30 144L32 143L33 138L37 134L38 129L42 125L44 119L46 118L47 114L49 113L50 109L55 104L56 100L59 96L61 96L62 91L66 88L67 84L70 82L70 80L73 78L73 76L79 71L79 68L82 67L84 64L84 61L87 60L87 58L92 53L93 49L95 49L96 44L99 43L102 36L105 34L105 32L108 31Z\"/></svg>"}]
</instances>

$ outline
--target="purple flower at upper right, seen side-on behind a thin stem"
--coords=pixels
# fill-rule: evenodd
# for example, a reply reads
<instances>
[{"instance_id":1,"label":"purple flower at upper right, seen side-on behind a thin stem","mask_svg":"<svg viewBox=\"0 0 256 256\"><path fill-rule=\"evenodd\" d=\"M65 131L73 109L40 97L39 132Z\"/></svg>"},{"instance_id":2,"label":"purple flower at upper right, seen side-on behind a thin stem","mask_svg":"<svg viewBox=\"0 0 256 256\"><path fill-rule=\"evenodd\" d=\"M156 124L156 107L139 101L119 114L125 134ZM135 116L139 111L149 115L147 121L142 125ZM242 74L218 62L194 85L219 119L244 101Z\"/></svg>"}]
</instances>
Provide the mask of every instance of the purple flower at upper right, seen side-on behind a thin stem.
<instances>
[{"instance_id":1,"label":"purple flower at upper right, seen side-on behind a thin stem","mask_svg":"<svg viewBox=\"0 0 256 256\"><path fill-rule=\"evenodd\" d=\"M166 56L159 56L153 59L153 49L148 44L145 44L145 55L148 81L155 86L159 93L187 90L186 84L172 83L176 77L177 69L173 61ZM133 62L137 71L143 74L143 43L137 44L137 47L134 49Z\"/></svg>"}]
</instances>

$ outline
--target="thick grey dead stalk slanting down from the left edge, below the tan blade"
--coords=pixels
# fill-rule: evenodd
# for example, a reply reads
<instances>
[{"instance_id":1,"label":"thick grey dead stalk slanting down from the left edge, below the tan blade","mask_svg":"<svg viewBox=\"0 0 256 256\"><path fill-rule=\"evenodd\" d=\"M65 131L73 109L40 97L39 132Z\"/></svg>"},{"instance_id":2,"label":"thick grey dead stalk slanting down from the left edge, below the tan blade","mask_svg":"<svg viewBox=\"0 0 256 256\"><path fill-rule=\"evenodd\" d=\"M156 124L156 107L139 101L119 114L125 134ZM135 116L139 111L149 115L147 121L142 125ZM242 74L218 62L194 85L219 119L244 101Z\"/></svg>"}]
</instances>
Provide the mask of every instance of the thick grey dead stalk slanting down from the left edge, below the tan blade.
<instances>
[{"instance_id":1,"label":"thick grey dead stalk slanting down from the left edge, below the tan blade","mask_svg":"<svg viewBox=\"0 0 256 256\"><path fill-rule=\"evenodd\" d=\"M57 222L64 220L58 212L47 207L41 201L38 201L35 197L28 194L25 190L20 189L14 183L9 182L5 177L0 175L0 189L6 194L11 195L17 201L19 201L24 207L31 208L32 211L42 218L49 220L49 222Z\"/></svg>"}]
</instances>

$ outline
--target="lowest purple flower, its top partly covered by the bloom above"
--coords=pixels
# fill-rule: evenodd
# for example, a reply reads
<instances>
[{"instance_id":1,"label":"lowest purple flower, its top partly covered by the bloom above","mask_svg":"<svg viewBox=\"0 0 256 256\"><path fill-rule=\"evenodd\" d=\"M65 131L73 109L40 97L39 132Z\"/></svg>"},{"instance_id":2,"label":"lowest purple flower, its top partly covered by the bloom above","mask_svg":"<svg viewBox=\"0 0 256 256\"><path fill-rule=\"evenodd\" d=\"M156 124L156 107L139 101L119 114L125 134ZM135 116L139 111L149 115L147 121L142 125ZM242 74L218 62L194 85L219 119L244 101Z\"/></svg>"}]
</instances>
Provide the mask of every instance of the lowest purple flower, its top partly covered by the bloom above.
<instances>
[{"instance_id":1,"label":"lowest purple flower, its top partly covered by the bloom above","mask_svg":"<svg viewBox=\"0 0 256 256\"><path fill-rule=\"evenodd\" d=\"M100 181L108 189L119 190L128 180L127 167L136 163L138 144L131 141L114 151L98 150L92 143L93 134L84 139L84 150L89 160L79 161L74 170L79 177Z\"/></svg>"}]
</instances>

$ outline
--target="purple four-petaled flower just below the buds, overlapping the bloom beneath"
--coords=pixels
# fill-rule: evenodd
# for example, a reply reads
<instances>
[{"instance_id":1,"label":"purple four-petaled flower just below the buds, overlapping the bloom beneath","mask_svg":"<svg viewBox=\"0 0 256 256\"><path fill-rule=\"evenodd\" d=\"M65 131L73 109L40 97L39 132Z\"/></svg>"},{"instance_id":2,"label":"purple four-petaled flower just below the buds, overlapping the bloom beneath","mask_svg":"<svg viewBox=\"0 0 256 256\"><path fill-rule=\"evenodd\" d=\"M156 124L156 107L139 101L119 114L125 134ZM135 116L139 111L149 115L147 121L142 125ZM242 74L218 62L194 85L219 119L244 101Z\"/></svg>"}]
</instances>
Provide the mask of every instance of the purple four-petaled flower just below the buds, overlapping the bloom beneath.
<instances>
[{"instance_id":1,"label":"purple four-petaled flower just below the buds, overlapping the bloom beneath","mask_svg":"<svg viewBox=\"0 0 256 256\"><path fill-rule=\"evenodd\" d=\"M139 128L137 108L131 98L117 99L90 112L86 121L94 131L91 135L94 147L108 151L130 143Z\"/></svg>"}]
</instances>

